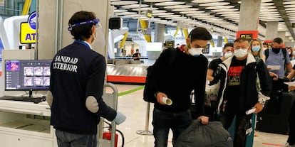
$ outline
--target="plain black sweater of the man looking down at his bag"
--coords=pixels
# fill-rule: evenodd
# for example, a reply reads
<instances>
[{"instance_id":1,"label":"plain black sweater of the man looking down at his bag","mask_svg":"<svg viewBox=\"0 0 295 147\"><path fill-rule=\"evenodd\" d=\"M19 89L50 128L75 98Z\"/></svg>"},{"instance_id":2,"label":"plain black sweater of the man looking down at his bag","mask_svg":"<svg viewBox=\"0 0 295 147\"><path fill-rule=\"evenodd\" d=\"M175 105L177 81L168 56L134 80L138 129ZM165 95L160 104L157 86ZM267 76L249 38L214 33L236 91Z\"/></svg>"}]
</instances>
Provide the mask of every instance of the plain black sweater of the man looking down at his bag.
<instances>
[{"instance_id":1,"label":"plain black sweater of the man looking down at his bag","mask_svg":"<svg viewBox=\"0 0 295 147\"><path fill-rule=\"evenodd\" d=\"M170 60L173 60L172 64ZM169 65L171 67L167 68ZM156 102L155 108L170 112L186 111L190 109L190 94L194 90L197 116L203 115L207 65L204 55L194 57L178 49L164 50L150 72L150 87L153 93L167 94L173 103L167 106Z\"/></svg>"}]
</instances>

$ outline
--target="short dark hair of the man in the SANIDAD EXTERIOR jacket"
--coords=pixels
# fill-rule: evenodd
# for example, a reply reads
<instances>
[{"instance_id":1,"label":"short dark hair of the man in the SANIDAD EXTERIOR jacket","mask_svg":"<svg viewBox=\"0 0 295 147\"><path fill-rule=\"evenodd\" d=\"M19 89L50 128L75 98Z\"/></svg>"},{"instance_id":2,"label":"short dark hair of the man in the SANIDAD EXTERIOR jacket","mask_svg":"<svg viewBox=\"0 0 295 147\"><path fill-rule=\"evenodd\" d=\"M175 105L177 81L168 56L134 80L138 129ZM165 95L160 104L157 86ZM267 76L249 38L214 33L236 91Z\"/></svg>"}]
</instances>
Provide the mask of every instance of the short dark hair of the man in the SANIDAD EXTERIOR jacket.
<instances>
[{"instance_id":1,"label":"short dark hair of the man in the SANIDAD EXTERIOR jacket","mask_svg":"<svg viewBox=\"0 0 295 147\"><path fill-rule=\"evenodd\" d=\"M70 18L70 20L68 21L68 26L85 21L92 21L95 18L95 14L93 12L78 11L74 13L73 16ZM93 33L91 31L93 25L95 25L95 23L86 23L80 26L73 27L71 29L71 34L73 38L76 40L85 40L87 38L90 38Z\"/></svg>"}]
</instances>

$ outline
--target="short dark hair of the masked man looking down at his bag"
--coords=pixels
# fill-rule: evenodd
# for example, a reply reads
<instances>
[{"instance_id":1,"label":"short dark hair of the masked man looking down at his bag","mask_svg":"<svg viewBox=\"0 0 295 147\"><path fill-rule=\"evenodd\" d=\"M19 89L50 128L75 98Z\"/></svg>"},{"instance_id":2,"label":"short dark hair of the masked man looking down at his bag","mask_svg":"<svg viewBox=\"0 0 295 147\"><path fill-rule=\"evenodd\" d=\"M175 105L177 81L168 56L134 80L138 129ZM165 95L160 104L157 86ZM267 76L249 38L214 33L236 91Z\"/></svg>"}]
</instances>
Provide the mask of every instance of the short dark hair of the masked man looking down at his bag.
<instances>
[{"instance_id":1,"label":"short dark hair of the masked man looking down at his bag","mask_svg":"<svg viewBox=\"0 0 295 147\"><path fill-rule=\"evenodd\" d=\"M207 28L203 28L203 27L194 28L192 31L190 31L190 34L188 37L190 38L190 42L194 40L211 40L212 39L212 36L209 33L209 31L207 31Z\"/></svg>"}]
</instances>

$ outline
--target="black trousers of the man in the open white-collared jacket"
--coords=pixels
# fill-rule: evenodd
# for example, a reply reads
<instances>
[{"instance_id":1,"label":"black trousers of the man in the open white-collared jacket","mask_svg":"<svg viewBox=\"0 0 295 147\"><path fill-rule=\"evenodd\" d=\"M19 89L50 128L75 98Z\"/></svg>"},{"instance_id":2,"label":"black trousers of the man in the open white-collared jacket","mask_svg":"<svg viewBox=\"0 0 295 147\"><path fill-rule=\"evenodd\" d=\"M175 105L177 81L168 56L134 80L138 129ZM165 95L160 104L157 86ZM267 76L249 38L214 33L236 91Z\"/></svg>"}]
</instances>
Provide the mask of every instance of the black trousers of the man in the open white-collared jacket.
<instances>
[{"instance_id":1,"label":"black trousers of the man in the open white-collared jacket","mask_svg":"<svg viewBox=\"0 0 295 147\"><path fill-rule=\"evenodd\" d=\"M234 120L234 116L236 116L237 119L234 132L234 147L245 147L247 137L246 130L251 127L250 119L252 118L252 115L234 113L220 114L219 121L222 122L224 129L229 129L229 126L231 126Z\"/></svg>"}]
</instances>

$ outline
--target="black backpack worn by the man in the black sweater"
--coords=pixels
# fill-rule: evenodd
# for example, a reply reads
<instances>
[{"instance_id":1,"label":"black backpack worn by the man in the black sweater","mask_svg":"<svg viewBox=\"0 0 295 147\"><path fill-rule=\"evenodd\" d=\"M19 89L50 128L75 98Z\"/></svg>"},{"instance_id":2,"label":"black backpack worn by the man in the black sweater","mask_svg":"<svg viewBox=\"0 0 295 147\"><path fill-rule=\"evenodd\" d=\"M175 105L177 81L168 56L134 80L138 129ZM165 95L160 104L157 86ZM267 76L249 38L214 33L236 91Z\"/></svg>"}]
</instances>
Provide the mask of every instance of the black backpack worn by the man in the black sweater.
<instances>
[{"instance_id":1,"label":"black backpack worn by the man in the black sweater","mask_svg":"<svg viewBox=\"0 0 295 147\"><path fill-rule=\"evenodd\" d=\"M175 55L176 55L176 50L175 48L170 48L170 49L166 49L166 50L173 50L172 51L172 55L171 58L169 60L169 62L167 63L167 67L165 68L165 70L163 70L164 72L162 73L162 75L164 75L165 73L167 73L167 71L170 69L170 67L172 66L173 61L175 60ZM155 94L151 91L150 87L149 87L149 76L150 76L150 72L152 71L153 65L149 66L147 68L147 76L145 78L145 88L143 89L143 100L145 102L152 102L155 103L157 102L157 99L155 97Z\"/></svg>"}]
</instances>

